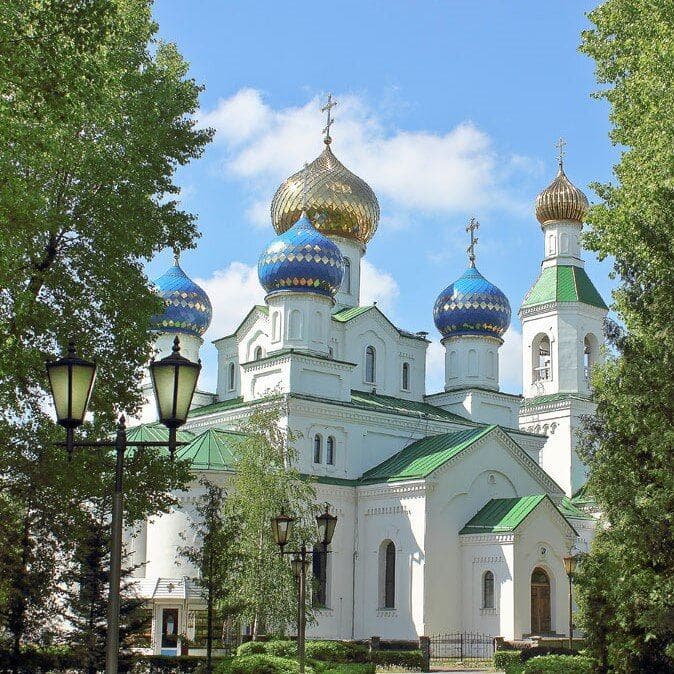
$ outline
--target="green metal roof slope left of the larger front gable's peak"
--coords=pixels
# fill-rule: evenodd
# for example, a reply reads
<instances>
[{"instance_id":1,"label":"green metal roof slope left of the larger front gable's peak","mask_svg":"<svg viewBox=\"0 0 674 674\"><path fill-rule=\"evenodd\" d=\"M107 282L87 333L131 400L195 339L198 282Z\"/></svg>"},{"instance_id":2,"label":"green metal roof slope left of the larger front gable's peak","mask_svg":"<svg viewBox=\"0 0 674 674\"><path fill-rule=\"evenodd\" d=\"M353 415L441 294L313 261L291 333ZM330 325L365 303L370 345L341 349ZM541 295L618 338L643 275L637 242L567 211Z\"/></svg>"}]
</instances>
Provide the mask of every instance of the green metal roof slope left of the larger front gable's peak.
<instances>
[{"instance_id":1,"label":"green metal roof slope left of the larger front gable's peak","mask_svg":"<svg viewBox=\"0 0 674 674\"><path fill-rule=\"evenodd\" d=\"M360 482L398 482L427 477L495 428L496 426L481 426L422 438L363 473Z\"/></svg>"}]
</instances>

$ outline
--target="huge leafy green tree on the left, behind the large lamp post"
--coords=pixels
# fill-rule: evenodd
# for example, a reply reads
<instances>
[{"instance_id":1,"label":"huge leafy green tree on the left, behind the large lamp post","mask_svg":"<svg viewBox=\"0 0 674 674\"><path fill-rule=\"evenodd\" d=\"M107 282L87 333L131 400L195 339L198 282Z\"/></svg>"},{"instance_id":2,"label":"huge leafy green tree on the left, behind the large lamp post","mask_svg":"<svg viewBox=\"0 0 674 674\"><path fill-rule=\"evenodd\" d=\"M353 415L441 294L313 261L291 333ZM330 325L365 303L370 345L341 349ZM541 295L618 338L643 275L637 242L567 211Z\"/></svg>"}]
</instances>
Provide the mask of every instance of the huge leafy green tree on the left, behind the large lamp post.
<instances>
[{"instance_id":1,"label":"huge leafy green tree on the left, behind the large lamp post","mask_svg":"<svg viewBox=\"0 0 674 674\"><path fill-rule=\"evenodd\" d=\"M79 504L111 484L108 456L68 464L53 447L43 361L74 336L99 362L91 435L134 412L160 309L143 263L196 234L174 177L211 134L194 122L200 87L156 33L149 0L0 3L0 493L19 541L0 559L0 616L17 652L56 605ZM184 484L156 453L130 464L131 521Z\"/></svg>"}]
</instances>

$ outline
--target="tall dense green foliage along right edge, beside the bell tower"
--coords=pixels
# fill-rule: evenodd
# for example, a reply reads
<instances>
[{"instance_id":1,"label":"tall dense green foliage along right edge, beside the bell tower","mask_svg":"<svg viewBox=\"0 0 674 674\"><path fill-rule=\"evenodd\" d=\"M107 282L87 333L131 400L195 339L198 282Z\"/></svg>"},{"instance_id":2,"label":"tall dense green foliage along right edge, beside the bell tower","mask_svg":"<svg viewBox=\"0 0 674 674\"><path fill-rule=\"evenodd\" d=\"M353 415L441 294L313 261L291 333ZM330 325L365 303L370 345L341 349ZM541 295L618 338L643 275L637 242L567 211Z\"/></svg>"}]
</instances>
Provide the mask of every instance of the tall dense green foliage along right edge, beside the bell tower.
<instances>
[{"instance_id":1,"label":"tall dense green foliage along right edge, beside the bell tower","mask_svg":"<svg viewBox=\"0 0 674 674\"><path fill-rule=\"evenodd\" d=\"M612 353L592 379L583 458L609 526L579 587L585 629L616 672L671 672L674 647L674 3L608 0L582 50L596 63L620 146L616 181L595 185L588 246L620 285ZM602 619L593 616L601 613Z\"/></svg>"}]
</instances>

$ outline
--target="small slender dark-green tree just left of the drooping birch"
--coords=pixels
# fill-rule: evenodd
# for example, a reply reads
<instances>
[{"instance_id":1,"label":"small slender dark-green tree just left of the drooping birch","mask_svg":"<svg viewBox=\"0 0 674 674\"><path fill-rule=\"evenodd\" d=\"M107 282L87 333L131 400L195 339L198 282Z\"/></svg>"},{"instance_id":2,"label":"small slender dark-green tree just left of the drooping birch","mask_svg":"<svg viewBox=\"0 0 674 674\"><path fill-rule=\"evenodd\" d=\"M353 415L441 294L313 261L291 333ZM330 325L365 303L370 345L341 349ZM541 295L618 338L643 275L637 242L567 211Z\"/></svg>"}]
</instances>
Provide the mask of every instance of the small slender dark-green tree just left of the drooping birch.
<instances>
[{"instance_id":1,"label":"small slender dark-green tree just left of the drooping birch","mask_svg":"<svg viewBox=\"0 0 674 674\"><path fill-rule=\"evenodd\" d=\"M225 510L227 492L207 479L196 505L194 545L179 553L199 572L195 581L206 594L206 674L213 671L213 632L217 616L236 612L236 587L241 572L241 526L237 514ZM223 624L220 625L222 632Z\"/></svg>"}]
</instances>

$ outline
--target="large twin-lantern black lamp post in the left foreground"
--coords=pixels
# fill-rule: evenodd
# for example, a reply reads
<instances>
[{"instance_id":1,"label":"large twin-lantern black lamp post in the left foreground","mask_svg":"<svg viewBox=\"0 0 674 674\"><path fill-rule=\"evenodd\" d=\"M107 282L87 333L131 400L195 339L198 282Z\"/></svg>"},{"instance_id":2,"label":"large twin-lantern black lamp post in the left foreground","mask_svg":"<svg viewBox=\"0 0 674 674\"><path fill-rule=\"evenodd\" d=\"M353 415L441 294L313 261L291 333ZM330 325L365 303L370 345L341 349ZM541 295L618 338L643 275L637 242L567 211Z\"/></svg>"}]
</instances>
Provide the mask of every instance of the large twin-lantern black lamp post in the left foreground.
<instances>
[{"instance_id":1,"label":"large twin-lantern black lamp post in the left foreground","mask_svg":"<svg viewBox=\"0 0 674 674\"><path fill-rule=\"evenodd\" d=\"M124 415L119 417L114 441L75 442L74 430L81 426L96 379L96 363L78 358L72 342L65 356L47 363L47 376L54 399L56 421L66 429L63 443L68 457L75 447L115 449L115 490L112 498L110 547L110 589L108 597L108 626L105 644L105 672L117 674L119 656L119 603L122 565L122 512L124 454L128 447L168 447L173 459L175 450L185 444L177 442L176 431L187 421L187 413L197 385L200 363L193 363L180 355L180 340L173 342L171 355L150 363L159 421L169 429L168 442L129 442L126 439Z\"/></svg>"}]
</instances>

